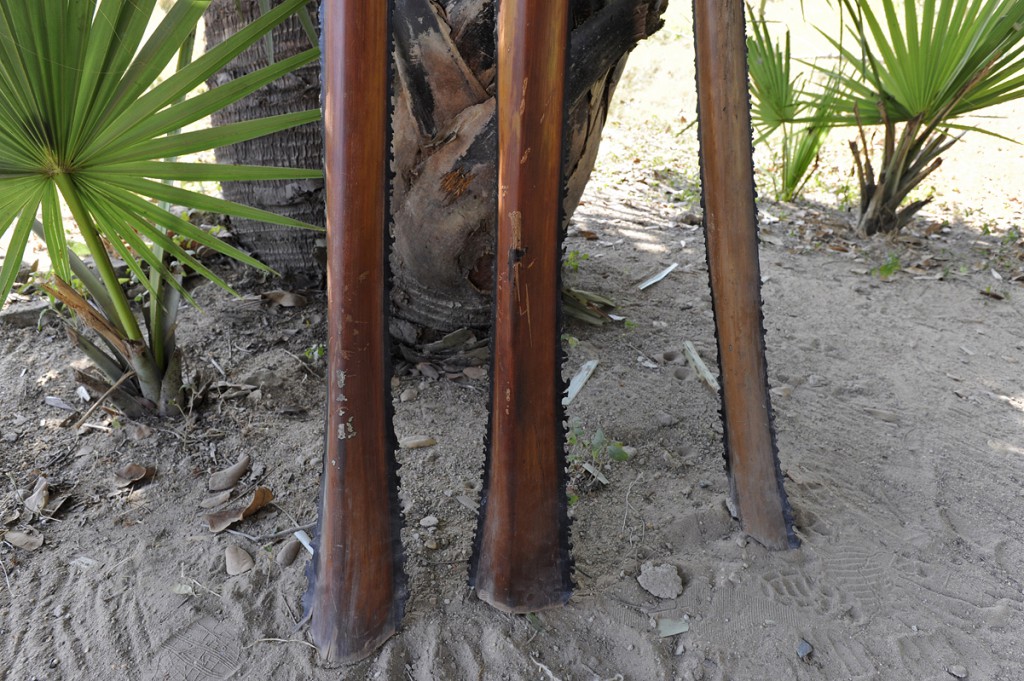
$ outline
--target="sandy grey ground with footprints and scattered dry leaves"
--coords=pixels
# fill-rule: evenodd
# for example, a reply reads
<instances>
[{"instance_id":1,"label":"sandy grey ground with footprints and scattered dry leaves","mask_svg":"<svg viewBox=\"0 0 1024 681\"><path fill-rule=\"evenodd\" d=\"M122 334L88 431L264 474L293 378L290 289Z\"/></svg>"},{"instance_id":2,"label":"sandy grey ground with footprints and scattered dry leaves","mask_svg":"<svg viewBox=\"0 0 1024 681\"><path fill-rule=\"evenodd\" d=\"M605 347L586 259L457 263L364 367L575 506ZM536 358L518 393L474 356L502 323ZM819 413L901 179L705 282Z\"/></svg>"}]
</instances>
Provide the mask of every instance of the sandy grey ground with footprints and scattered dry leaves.
<instances>
[{"instance_id":1,"label":"sandy grey ground with footprints and scattered dry leaves","mask_svg":"<svg viewBox=\"0 0 1024 681\"><path fill-rule=\"evenodd\" d=\"M3 529L44 540L0 544L0 678L1024 679L1024 250L1007 231L1021 227L1019 148L966 139L935 180L936 204L895 241L857 239L835 209L849 171L839 152L808 201L763 202L775 427L803 543L766 551L724 505L718 396L677 356L691 341L715 367L703 241L687 219L698 210L692 40L688 3L676 4L626 79L566 240L580 265L567 281L628 320L566 329L566 376L600 363L569 409L566 607L511 616L467 588L485 379L399 363L397 434L436 439L399 453L408 613L374 657L317 665L296 631L305 555L282 567L287 540L270 536L315 515L326 389L306 350L324 342L325 300L272 306L259 294L278 285L249 279L241 300L201 287L203 311L183 316L187 373L213 385L182 420L98 412L102 429L63 427L71 412L47 397L86 406L59 326L0 325ZM1024 136L1020 113L999 125ZM580 467L599 430L632 453L597 462L607 484ZM242 534L212 534L200 508L209 475L242 454L252 468L227 506L259 485L274 500L232 526ZM131 462L156 476L117 487ZM40 477L51 506L67 497L52 519L15 497ZM437 522L424 527L428 516ZM252 569L226 573L230 545ZM648 561L678 571L678 597L640 586ZM686 631L659 635L671 627Z\"/></svg>"}]
</instances>

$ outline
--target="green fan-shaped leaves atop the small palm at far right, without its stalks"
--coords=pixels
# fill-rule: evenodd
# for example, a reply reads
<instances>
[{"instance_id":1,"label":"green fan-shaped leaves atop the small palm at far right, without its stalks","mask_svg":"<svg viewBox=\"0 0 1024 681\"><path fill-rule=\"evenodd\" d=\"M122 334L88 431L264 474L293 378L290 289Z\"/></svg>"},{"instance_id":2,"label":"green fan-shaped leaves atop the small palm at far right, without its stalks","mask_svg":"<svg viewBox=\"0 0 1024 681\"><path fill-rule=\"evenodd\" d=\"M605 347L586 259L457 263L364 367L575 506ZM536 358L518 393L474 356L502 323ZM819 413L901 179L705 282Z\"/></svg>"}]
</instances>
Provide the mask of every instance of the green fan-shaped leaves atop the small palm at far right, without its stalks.
<instances>
[{"instance_id":1,"label":"green fan-shaped leaves atop the small palm at far right, without its stalks","mask_svg":"<svg viewBox=\"0 0 1024 681\"><path fill-rule=\"evenodd\" d=\"M920 119L927 128L1024 95L1024 2L841 0L856 45L825 36L845 68L835 123Z\"/></svg>"}]
</instances>

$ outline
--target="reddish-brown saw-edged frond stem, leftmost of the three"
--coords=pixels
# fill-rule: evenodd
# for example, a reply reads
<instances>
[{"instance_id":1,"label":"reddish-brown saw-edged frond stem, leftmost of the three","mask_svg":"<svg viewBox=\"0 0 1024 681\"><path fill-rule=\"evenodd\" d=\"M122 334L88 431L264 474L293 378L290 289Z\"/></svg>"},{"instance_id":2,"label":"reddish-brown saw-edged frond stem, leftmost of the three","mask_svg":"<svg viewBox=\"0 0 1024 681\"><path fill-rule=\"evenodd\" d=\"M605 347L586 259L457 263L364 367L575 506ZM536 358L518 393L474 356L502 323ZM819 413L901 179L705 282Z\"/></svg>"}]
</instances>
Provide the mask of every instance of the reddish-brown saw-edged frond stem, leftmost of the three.
<instances>
[{"instance_id":1,"label":"reddish-brown saw-edged frond stem, leftmost of the three","mask_svg":"<svg viewBox=\"0 0 1024 681\"><path fill-rule=\"evenodd\" d=\"M306 608L327 663L366 657L404 608L387 336L390 2L325 0L328 408Z\"/></svg>"}]
</instances>

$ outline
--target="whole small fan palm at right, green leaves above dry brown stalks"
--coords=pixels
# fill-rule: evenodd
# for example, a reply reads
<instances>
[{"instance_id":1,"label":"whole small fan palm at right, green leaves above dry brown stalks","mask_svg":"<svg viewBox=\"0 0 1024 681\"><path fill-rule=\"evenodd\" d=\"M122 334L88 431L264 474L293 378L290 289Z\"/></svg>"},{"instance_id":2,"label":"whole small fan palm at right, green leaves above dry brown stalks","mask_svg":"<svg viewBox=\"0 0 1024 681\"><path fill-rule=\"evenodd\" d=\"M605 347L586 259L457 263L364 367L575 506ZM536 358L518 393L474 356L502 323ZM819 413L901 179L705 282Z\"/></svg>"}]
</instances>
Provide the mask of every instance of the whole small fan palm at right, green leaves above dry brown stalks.
<instances>
[{"instance_id":1,"label":"whole small fan palm at right, green leaves above dry brown stalks","mask_svg":"<svg viewBox=\"0 0 1024 681\"><path fill-rule=\"evenodd\" d=\"M931 201L904 205L941 155L964 132L984 132L956 119L1024 95L1024 2L905 0L902 11L895 0L881 0L880 9L868 0L841 2L856 47L826 36L841 55L840 67L819 68L834 79L830 124L858 128L850 148L859 229L896 232ZM869 126L883 129L881 159Z\"/></svg>"}]
</instances>

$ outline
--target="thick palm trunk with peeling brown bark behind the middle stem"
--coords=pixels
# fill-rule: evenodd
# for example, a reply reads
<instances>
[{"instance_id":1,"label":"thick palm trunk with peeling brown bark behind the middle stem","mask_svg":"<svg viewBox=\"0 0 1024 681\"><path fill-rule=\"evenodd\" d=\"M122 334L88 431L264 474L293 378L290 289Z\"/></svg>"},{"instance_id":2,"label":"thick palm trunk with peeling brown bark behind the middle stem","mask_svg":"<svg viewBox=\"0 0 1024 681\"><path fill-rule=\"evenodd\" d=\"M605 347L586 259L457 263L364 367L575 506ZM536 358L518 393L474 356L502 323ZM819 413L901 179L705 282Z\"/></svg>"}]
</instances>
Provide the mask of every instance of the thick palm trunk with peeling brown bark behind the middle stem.
<instances>
[{"instance_id":1,"label":"thick palm trunk with peeling brown bark behind the middle stem","mask_svg":"<svg viewBox=\"0 0 1024 681\"><path fill-rule=\"evenodd\" d=\"M570 5L577 25L569 51L566 215L593 170L625 56L660 26L664 10L663 0ZM487 30L493 2L444 7L446 16L428 0L400 0L396 7L392 301L397 316L414 325L452 330L490 322L497 128L493 56L462 56L495 53Z\"/></svg>"}]
</instances>

